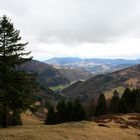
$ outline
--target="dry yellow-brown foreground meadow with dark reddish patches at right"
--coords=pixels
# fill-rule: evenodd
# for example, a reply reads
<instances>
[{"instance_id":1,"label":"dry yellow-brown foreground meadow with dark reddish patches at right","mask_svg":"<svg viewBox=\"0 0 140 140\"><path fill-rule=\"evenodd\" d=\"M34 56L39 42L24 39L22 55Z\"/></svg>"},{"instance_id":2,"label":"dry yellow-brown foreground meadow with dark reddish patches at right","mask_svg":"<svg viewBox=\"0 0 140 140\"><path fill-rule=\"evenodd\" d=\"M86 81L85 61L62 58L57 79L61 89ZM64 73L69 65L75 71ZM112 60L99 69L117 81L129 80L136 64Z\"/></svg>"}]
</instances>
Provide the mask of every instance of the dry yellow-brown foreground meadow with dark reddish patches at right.
<instances>
[{"instance_id":1,"label":"dry yellow-brown foreground meadow with dark reddish patches at right","mask_svg":"<svg viewBox=\"0 0 140 140\"><path fill-rule=\"evenodd\" d=\"M139 140L140 114L105 116L90 121L43 125L22 116L23 126L0 129L0 140Z\"/></svg>"}]
</instances>

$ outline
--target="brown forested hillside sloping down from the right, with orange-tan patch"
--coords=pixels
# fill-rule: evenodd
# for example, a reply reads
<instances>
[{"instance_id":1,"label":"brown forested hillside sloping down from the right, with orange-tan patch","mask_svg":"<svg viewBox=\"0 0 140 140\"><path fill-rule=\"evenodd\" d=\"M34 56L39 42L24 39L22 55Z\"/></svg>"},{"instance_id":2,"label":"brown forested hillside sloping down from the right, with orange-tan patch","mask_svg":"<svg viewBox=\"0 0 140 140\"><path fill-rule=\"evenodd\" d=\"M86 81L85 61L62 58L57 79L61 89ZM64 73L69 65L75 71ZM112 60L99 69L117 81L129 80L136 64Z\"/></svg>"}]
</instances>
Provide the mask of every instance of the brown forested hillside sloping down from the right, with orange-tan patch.
<instances>
[{"instance_id":1,"label":"brown forested hillside sloping down from the right, with orange-tan patch","mask_svg":"<svg viewBox=\"0 0 140 140\"><path fill-rule=\"evenodd\" d=\"M71 88L72 87L72 88ZM91 100L101 93L117 89L118 87L140 87L140 65L119 70L113 73L93 76L85 82L64 89L62 94L67 97L78 97L83 100Z\"/></svg>"}]
</instances>

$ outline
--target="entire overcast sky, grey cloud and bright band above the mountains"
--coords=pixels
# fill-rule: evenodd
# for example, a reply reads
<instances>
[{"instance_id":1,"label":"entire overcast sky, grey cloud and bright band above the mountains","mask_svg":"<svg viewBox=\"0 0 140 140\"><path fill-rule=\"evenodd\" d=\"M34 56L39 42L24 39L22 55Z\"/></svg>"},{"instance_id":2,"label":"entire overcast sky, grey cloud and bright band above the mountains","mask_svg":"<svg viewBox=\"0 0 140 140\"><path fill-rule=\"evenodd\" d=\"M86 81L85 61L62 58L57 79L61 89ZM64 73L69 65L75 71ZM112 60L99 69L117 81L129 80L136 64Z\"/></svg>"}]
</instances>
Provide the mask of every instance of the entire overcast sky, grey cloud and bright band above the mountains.
<instances>
[{"instance_id":1,"label":"entire overcast sky, grey cloud and bright band above the mountains","mask_svg":"<svg viewBox=\"0 0 140 140\"><path fill-rule=\"evenodd\" d=\"M0 0L35 59L140 58L140 0Z\"/></svg>"}]
</instances>

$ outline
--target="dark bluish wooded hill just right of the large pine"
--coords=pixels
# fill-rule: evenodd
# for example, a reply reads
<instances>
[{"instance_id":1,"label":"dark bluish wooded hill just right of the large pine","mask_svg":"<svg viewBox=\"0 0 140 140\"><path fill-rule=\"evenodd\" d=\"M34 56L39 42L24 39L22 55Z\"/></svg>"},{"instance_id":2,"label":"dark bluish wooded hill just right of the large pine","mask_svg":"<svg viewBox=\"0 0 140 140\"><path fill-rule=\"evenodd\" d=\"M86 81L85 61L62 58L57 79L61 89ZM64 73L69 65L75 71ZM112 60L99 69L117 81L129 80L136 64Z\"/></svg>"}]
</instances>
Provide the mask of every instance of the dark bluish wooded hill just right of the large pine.
<instances>
[{"instance_id":1,"label":"dark bluish wooded hill just right of the large pine","mask_svg":"<svg viewBox=\"0 0 140 140\"><path fill-rule=\"evenodd\" d=\"M45 87L68 84L66 79L57 69L43 62L32 60L18 67L18 70L37 73L38 83Z\"/></svg>"}]
</instances>

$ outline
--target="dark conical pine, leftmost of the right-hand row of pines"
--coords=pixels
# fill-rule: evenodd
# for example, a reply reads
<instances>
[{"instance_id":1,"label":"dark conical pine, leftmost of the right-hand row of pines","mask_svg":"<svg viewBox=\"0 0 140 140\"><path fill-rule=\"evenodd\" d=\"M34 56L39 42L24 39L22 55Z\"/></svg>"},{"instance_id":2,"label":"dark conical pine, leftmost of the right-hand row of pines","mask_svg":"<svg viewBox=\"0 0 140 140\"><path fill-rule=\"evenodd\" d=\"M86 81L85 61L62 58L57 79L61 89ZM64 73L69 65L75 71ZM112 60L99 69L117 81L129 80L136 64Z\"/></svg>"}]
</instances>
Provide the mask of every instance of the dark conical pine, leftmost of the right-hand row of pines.
<instances>
[{"instance_id":1,"label":"dark conical pine, leftmost of the right-hand row of pines","mask_svg":"<svg viewBox=\"0 0 140 140\"><path fill-rule=\"evenodd\" d=\"M107 113L106 99L105 99L104 94L100 94L94 115L101 116L106 113Z\"/></svg>"}]
</instances>

